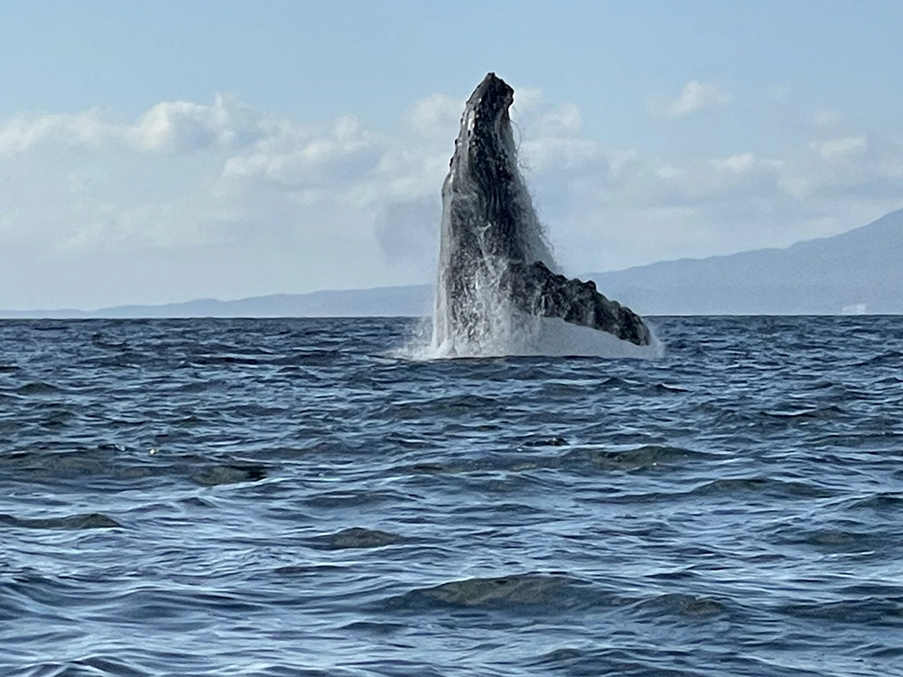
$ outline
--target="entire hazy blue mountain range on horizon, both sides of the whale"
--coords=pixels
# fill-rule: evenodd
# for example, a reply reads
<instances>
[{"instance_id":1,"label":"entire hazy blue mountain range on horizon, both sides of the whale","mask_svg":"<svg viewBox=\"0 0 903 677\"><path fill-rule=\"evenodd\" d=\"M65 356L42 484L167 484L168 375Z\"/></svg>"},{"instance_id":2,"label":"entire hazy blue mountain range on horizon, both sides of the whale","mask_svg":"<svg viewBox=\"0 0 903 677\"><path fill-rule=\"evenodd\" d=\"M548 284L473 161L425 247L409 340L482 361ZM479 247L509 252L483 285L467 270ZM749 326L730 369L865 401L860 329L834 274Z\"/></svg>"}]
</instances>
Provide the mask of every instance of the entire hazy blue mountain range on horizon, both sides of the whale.
<instances>
[{"instance_id":1,"label":"entire hazy blue mountain range on horizon, both sides of the whale","mask_svg":"<svg viewBox=\"0 0 903 677\"><path fill-rule=\"evenodd\" d=\"M903 314L903 209L842 235L786 249L680 259L582 275L643 315ZM100 311L0 311L3 318L416 317L428 285L200 299Z\"/></svg>"}]
</instances>

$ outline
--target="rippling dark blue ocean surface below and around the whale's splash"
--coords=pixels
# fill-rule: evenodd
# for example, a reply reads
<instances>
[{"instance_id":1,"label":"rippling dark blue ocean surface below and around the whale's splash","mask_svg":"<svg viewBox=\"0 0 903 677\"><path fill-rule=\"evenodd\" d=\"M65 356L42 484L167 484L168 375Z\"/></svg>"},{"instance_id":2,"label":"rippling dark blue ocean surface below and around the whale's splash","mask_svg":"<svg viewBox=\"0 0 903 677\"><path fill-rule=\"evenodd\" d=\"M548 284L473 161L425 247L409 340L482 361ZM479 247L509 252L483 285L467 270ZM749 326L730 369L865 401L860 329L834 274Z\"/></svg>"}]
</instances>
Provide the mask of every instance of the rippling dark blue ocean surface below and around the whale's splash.
<instances>
[{"instance_id":1,"label":"rippling dark blue ocean surface below and around the whale's splash","mask_svg":"<svg viewBox=\"0 0 903 677\"><path fill-rule=\"evenodd\" d=\"M903 317L0 322L0 675L903 675Z\"/></svg>"}]
</instances>

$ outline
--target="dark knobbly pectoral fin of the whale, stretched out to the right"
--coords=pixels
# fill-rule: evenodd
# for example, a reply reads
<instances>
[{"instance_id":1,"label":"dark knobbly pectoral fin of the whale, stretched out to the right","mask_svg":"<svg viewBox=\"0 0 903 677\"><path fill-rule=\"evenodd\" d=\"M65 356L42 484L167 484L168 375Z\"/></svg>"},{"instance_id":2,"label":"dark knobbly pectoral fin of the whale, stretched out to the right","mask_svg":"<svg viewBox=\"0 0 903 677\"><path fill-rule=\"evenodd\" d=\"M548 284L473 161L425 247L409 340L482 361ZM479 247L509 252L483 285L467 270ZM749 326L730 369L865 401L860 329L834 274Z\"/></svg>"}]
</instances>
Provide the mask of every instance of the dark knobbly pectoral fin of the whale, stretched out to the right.
<instances>
[{"instance_id":1,"label":"dark knobbly pectoral fin of the whale, stretched out to the right","mask_svg":"<svg viewBox=\"0 0 903 677\"><path fill-rule=\"evenodd\" d=\"M536 261L512 262L506 282L515 305L522 311L608 331L638 346L649 344L649 330L643 320L597 292L591 280L568 280Z\"/></svg>"}]
</instances>

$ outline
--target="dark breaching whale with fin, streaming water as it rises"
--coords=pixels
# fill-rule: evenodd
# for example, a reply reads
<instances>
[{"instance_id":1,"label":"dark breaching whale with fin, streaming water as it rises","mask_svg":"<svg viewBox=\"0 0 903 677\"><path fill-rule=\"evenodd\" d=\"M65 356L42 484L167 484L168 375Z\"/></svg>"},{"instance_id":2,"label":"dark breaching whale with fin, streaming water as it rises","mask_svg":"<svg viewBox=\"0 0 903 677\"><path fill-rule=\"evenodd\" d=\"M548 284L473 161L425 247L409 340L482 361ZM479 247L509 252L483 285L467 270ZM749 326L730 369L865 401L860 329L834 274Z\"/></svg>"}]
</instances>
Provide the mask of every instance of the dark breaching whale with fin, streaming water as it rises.
<instances>
[{"instance_id":1,"label":"dark breaching whale with fin, streaming water as it rises","mask_svg":"<svg viewBox=\"0 0 903 677\"><path fill-rule=\"evenodd\" d=\"M649 346L654 338L636 313L605 298L595 283L556 273L518 172L508 117L513 101L514 90L489 73L461 116L442 184L433 350L449 355L505 352L499 351L501 342L516 345L513 352L518 352L544 318L563 320L584 333L607 332L635 347Z\"/></svg>"}]
</instances>

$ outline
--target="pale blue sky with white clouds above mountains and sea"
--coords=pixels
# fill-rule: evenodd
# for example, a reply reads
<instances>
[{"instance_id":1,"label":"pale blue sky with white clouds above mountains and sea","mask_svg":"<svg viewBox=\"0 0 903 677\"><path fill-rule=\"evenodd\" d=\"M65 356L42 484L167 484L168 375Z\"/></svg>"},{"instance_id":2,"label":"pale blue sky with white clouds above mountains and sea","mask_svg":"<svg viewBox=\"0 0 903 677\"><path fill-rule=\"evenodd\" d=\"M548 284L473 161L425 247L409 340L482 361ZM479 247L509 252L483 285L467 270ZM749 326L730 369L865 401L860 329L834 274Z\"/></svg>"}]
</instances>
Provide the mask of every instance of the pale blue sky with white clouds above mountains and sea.
<instances>
[{"instance_id":1,"label":"pale blue sky with white clouds above mountains and sea","mask_svg":"<svg viewBox=\"0 0 903 677\"><path fill-rule=\"evenodd\" d=\"M488 71L565 272L903 208L903 3L0 4L0 309L429 283Z\"/></svg>"}]
</instances>

